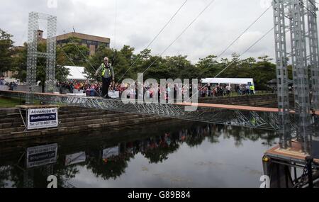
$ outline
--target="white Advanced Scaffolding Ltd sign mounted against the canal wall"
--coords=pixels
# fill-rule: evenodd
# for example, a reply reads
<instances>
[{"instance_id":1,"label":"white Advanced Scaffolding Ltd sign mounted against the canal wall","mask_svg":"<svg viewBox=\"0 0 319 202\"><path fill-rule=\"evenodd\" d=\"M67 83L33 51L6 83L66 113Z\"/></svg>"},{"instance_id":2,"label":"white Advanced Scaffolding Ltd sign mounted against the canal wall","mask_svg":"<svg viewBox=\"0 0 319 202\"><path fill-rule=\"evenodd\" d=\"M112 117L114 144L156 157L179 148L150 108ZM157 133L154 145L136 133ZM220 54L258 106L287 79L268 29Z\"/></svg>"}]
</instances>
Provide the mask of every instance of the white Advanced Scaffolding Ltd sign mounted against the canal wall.
<instances>
[{"instance_id":1,"label":"white Advanced Scaffolding Ltd sign mounted against the canal wall","mask_svg":"<svg viewBox=\"0 0 319 202\"><path fill-rule=\"evenodd\" d=\"M57 108L31 108L28 110L28 130L55 128L58 125Z\"/></svg>"}]
</instances>

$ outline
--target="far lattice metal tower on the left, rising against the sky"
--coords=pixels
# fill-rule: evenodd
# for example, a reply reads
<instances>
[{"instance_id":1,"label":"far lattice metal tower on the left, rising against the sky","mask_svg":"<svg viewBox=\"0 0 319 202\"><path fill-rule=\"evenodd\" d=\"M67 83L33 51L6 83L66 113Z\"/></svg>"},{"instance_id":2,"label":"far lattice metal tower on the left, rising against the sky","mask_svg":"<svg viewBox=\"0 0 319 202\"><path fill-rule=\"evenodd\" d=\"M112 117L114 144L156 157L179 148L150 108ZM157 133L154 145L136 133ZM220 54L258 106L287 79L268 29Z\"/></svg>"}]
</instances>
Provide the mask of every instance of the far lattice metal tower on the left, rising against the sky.
<instances>
[{"instance_id":1,"label":"far lattice metal tower on the left, rising against the sky","mask_svg":"<svg viewBox=\"0 0 319 202\"><path fill-rule=\"evenodd\" d=\"M39 20L47 21L47 52L38 52ZM33 103L33 91L37 82L37 60L45 57L46 82L45 91L52 92L55 86L55 53L56 53L57 17L43 13L29 13L28 22L28 61L27 61L27 85L28 94L26 103Z\"/></svg>"}]
</instances>

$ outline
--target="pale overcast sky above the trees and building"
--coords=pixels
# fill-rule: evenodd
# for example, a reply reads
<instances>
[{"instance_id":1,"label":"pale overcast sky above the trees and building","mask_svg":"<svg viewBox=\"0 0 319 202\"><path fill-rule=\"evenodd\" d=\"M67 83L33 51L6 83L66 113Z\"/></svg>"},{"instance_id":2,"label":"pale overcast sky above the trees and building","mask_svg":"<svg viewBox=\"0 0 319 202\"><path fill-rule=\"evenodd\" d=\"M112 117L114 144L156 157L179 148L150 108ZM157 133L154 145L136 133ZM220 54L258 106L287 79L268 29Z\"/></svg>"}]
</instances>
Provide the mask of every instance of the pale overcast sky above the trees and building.
<instances>
[{"instance_id":1,"label":"pale overcast sky above the trees and building","mask_svg":"<svg viewBox=\"0 0 319 202\"><path fill-rule=\"evenodd\" d=\"M140 52L186 0L57 0L57 7L54 0L0 1L0 28L14 35L16 45L27 40L28 13L36 11L57 16L58 35L71 32L74 26L78 33L111 38L111 47L130 45ZM152 54L161 53L210 2L187 1L151 45ZM188 55L193 62L207 55L219 55L267 9L269 2L216 0L164 55ZM273 27L272 14L269 9L223 57L245 51L267 33ZM40 23L40 28L45 29L44 25ZM242 57L262 55L274 57L273 31Z\"/></svg>"}]
</instances>

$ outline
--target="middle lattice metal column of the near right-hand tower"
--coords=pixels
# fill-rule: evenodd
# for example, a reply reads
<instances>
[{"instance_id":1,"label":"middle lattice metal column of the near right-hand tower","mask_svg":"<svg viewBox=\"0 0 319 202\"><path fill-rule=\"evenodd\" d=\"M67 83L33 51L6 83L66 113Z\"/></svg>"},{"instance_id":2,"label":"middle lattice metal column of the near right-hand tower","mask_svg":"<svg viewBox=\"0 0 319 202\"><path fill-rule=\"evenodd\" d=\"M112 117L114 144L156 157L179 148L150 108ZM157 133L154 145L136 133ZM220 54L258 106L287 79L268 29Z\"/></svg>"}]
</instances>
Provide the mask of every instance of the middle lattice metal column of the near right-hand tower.
<instances>
[{"instance_id":1,"label":"middle lattice metal column of the near right-hand tower","mask_svg":"<svg viewBox=\"0 0 319 202\"><path fill-rule=\"evenodd\" d=\"M307 0L308 1L308 0ZM293 86L295 111L298 116L297 138L303 142L304 152L310 153L309 127L310 119L310 86L308 77L306 13L303 0L291 0L289 19L291 29L291 64L293 67Z\"/></svg>"}]
</instances>

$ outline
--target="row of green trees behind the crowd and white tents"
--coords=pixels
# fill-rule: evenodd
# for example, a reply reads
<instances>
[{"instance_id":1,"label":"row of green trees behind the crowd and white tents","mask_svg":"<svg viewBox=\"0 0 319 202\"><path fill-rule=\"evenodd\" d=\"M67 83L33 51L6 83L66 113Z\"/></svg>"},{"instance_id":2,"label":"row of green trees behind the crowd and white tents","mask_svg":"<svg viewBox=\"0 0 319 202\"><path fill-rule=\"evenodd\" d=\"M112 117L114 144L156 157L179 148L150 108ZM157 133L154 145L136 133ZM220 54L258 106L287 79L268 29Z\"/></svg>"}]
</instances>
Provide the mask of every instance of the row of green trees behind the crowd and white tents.
<instances>
[{"instance_id":1,"label":"row of green trees behind the crowd and white tents","mask_svg":"<svg viewBox=\"0 0 319 202\"><path fill-rule=\"evenodd\" d=\"M13 51L12 35L0 30L0 72L12 70L18 72L16 77L26 81L27 44ZM241 60L240 55L233 53L230 59L217 60L216 55L208 55L201 58L196 64L192 64L187 56L152 56L151 50L142 50L134 54L135 48L124 45L121 50L100 46L96 54L89 56L89 48L79 45L81 40L69 38L63 45L57 45L56 77L58 81L65 81L69 72L63 66L85 67L89 77L94 77L96 69L108 57L116 74L116 82L123 79L137 79L138 73L144 74L144 79L202 79L208 77L225 78L253 78L257 90L267 89L267 82L276 79L276 65L269 56L247 57ZM45 43L39 43L38 50L46 52ZM15 57L12 57L14 54ZM45 59L38 59L37 79L43 84L45 81ZM227 68L226 68L227 67ZM223 71L225 69L225 71ZM291 79L291 66L289 66L289 78ZM219 74L222 72L221 74ZM125 76L123 76L125 74ZM123 77L122 77L123 76Z\"/></svg>"}]
</instances>

